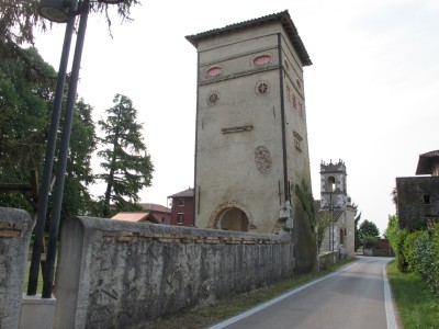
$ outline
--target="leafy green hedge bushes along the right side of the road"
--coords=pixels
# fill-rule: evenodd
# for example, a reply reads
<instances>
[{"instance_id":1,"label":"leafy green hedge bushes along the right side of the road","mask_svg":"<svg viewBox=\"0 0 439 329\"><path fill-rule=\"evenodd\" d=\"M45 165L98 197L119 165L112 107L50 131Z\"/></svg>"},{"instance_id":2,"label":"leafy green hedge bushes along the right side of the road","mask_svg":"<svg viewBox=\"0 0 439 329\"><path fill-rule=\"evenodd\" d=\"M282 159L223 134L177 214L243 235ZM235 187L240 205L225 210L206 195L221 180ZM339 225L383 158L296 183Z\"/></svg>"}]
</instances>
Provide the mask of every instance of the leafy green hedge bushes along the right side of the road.
<instances>
[{"instance_id":1,"label":"leafy green hedge bushes along the right side of the road","mask_svg":"<svg viewBox=\"0 0 439 329\"><path fill-rule=\"evenodd\" d=\"M397 224L397 217L391 216L386 234L395 251L399 271L418 273L439 297L439 225L407 231L395 229L395 223Z\"/></svg>"}]
</instances>

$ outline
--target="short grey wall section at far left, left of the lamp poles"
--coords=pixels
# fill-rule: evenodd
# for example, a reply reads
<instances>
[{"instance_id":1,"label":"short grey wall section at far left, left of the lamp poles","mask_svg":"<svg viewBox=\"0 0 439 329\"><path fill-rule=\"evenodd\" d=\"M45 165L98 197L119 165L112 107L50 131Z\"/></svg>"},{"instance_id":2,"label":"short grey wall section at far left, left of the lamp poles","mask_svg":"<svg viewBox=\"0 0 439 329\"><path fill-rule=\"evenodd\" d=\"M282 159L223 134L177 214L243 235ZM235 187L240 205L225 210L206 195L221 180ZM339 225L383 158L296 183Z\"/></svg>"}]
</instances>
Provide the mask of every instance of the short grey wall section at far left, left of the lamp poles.
<instances>
[{"instance_id":1,"label":"short grey wall section at far left, left of the lamp poles","mask_svg":"<svg viewBox=\"0 0 439 329\"><path fill-rule=\"evenodd\" d=\"M0 328L19 328L31 234L26 212L0 207Z\"/></svg>"}]
</instances>

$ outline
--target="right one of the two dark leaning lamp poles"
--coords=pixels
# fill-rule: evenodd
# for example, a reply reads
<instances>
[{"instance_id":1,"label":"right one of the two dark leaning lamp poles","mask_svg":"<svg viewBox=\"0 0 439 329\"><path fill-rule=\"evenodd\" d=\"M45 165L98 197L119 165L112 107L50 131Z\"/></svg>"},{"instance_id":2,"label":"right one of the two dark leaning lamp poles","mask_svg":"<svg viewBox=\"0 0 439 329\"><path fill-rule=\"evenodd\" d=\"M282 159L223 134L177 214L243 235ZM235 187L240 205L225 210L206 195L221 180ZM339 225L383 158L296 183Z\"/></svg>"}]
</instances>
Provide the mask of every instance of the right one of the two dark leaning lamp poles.
<instances>
[{"instance_id":1,"label":"right one of the two dark leaning lamp poles","mask_svg":"<svg viewBox=\"0 0 439 329\"><path fill-rule=\"evenodd\" d=\"M78 37L75 47L74 64L71 67L71 79L67 95L67 107L66 107L66 115L63 128L61 145L59 150L58 169L56 174L54 204L52 208L52 218L50 218L49 241L47 248L47 264L43 284L43 298L52 297L52 286L54 282L54 272L55 272L54 269L55 269L55 258L56 258L56 245L58 240L59 217L63 203L64 181L66 175L71 124L75 110L74 107L77 95L79 70L81 65L82 48L86 36L89 9L90 9L90 0L83 0L80 5L81 16L79 21Z\"/></svg>"}]
</instances>

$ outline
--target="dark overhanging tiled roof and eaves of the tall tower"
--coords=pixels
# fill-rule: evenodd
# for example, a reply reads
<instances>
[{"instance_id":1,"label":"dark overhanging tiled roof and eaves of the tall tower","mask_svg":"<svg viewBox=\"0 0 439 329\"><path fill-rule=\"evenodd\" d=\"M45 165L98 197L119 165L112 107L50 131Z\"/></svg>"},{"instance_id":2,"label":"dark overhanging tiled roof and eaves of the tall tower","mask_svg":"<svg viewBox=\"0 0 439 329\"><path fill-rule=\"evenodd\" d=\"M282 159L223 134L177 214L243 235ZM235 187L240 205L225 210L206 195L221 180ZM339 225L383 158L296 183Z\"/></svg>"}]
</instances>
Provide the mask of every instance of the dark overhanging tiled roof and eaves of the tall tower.
<instances>
[{"instance_id":1,"label":"dark overhanging tiled roof and eaves of the tall tower","mask_svg":"<svg viewBox=\"0 0 439 329\"><path fill-rule=\"evenodd\" d=\"M266 15L259 19L254 19L249 21L244 21L241 23L236 23L236 24L230 24L226 25L222 29L214 29L210 30L206 32L202 32L199 34L193 34L193 35L187 35L185 38L195 47L198 48L199 43L204 39L209 39L211 37L215 37L218 35L224 35L224 34L229 34L234 33L236 31L241 31L248 27L252 26L258 26L267 23L272 23L272 22L280 22L285 30L290 42L293 44L294 49L297 52L299 57L302 61L303 66L308 66L313 65L313 63L309 59L309 55L305 49L305 46L299 36L297 30L294 26L293 21L291 20L290 13L288 10L282 11L280 13L274 13L270 15Z\"/></svg>"}]
</instances>

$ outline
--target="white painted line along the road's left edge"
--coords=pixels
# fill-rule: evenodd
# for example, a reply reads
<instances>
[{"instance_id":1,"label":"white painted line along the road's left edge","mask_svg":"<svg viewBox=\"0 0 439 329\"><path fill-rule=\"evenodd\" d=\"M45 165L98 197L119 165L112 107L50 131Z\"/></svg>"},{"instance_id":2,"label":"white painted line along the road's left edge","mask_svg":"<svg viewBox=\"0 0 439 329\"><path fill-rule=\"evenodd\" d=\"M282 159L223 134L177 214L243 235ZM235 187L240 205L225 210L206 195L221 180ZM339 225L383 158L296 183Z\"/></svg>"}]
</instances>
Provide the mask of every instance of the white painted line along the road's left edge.
<instances>
[{"instance_id":1,"label":"white painted line along the road's left edge","mask_svg":"<svg viewBox=\"0 0 439 329\"><path fill-rule=\"evenodd\" d=\"M260 310L262 310L262 309L264 309L264 308L267 308L267 307L269 307L269 306L271 306L271 305L273 305L273 304L275 304L275 303L278 303L278 302L280 302L280 300L284 299L284 298L286 298L286 297L290 297L290 296L292 296L292 295L294 295L294 294L307 288L308 286L312 286L312 285L314 285L314 284L316 284L316 283L318 283L320 281L324 281L324 280L329 279L329 277L331 277L334 275L337 275L341 271L345 271L347 269L350 269L353 265L357 265L360 261L354 261L352 264L344 266L340 270L338 270L337 272L334 272L331 274L328 274L326 276L323 276L320 279L317 279L315 281L312 281L309 283L301 285L301 286L299 286L299 287L296 287L296 288L294 288L294 290L292 290L292 291L290 291L288 293L284 293L283 295L280 295L279 297L275 297L274 299L270 299L269 302L266 302L266 303L263 303L263 304L261 304L259 306L250 308L249 310L247 310L245 313L241 313L241 314L238 314L237 316L235 316L233 318L229 318L229 319L224 320L224 321L222 321L219 324L216 324L216 325L214 325L212 327L209 327L209 329L222 329L222 328L225 328L225 327L227 327L227 326L229 326L232 324L235 324L235 322L237 322L237 321L239 321L239 320L241 320L241 319L244 319L244 318L246 318L246 317L248 317L248 316L250 316L250 315L252 315L255 313L258 313L258 311L260 311ZM390 327L387 326L387 328L390 328Z\"/></svg>"}]
</instances>

